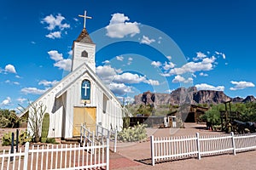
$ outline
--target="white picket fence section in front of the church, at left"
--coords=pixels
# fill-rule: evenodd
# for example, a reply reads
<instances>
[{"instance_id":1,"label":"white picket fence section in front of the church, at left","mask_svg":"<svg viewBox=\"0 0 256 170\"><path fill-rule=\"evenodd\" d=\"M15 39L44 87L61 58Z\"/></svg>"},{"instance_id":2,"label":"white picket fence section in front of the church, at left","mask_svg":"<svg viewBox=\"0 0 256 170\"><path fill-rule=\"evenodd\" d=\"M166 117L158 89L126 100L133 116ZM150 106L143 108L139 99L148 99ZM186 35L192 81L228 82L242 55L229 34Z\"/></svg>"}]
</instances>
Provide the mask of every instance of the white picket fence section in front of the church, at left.
<instances>
[{"instance_id":1,"label":"white picket fence section in front of the church, at left","mask_svg":"<svg viewBox=\"0 0 256 170\"><path fill-rule=\"evenodd\" d=\"M25 150L24 150L25 149ZM91 150L95 150L91 154ZM13 161L11 161L13 157ZM3 150L0 154L3 169L109 169L109 140L107 144L49 144L30 146L17 153Z\"/></svg>"}]
</instances>

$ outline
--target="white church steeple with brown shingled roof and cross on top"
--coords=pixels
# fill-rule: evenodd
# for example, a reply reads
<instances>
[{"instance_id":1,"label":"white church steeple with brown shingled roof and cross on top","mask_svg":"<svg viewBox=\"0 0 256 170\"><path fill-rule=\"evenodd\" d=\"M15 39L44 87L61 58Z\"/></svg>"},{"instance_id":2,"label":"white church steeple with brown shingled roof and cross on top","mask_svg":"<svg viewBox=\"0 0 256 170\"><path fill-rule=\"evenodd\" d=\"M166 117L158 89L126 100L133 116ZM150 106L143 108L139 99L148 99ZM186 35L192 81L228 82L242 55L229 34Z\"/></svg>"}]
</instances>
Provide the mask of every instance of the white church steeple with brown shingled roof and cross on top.
<instances>
[{"instance_id":1,"label":"white church steeple with brown shingled roof and cross on top","mask_svg":"<svg viewBox=\"0 0 256 170\"><path fill-rule=\"evenodd\" d=\"M85 63L90 67L92 71L96 72L96 44L91 41L90 36L85 29L85 21L86 19L91 19L91 17L86 16L86 11L84 11L84 15L79 15L79 17L84 18L84 29L81 31L79 37L73 42L73 59L71 71L74 71L80 65Z\"/></svg>"}]
</instances>

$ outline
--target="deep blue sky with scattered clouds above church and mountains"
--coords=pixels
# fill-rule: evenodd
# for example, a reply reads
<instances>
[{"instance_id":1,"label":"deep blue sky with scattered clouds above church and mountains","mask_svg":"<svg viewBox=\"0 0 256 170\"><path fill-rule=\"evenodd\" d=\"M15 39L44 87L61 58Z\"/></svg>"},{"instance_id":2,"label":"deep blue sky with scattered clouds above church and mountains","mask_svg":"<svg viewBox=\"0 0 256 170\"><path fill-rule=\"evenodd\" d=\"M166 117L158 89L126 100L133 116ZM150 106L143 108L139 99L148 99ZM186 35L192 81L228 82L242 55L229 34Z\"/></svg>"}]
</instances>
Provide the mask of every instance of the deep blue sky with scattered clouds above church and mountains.
<instances>
[{"instance_id":1,"label":"deep blue sky with scattered clouds above church and mountains","mask_svg":"<svg viewBox=\"0 0 256 170\"><path fill-rule=\"evenodd\" d=\"M68 74L84 10L96 73L119 98L181 86L256 95L253 0L9 0L0 6L0 108L26 106Z\"/></svg>"}]
</instances>

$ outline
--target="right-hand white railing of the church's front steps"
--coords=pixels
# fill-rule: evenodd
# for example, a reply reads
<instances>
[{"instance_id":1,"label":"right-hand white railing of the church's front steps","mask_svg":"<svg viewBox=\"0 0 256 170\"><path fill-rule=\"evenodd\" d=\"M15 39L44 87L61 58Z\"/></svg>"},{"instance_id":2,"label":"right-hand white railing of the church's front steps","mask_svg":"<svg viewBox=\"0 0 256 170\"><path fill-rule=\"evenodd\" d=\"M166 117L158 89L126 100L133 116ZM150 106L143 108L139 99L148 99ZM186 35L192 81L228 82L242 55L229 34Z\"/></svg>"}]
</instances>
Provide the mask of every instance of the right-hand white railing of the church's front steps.
<instances>
[{"instance_id":1,"label":"right-hand white railing of the church's front steps","mask_svg":"<svg viewBox=\"0 0 256 170\"><path fill-rule=\"evenodd\" d=\"M118 131L117 129L114 130L108 130L108 128L102 127L101 125L96 125L96 138L99 139L99 137L103 137L105 139L109 139L113 142L113 152L116 152L117 147L117 135Z\"/></svg>"}]
</instances>

